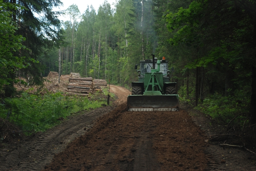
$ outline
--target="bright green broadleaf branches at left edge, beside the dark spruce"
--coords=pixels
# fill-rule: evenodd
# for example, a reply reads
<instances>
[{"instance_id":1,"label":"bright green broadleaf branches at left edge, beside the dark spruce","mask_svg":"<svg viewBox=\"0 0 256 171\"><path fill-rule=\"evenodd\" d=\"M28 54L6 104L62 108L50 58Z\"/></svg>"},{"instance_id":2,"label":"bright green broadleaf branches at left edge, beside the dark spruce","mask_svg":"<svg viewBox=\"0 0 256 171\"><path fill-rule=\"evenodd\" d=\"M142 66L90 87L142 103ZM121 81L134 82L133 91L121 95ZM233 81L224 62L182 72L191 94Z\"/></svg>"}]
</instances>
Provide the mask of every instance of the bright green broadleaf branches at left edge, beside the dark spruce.
<instances>
[{"instance_id":1,"label":"bright green broadleaf branches at left edge, beside the dark spruce","mask_svg":"<svg viewBox=\"0 0 256 171\"><path fill-rule=\"evenodd\" d=\"M14 55L15 52L21 49L26 49L22 45L22 42L26 40L22 35L17 35L18 30L16 23L12 20L12 11L8 9L24 9L23 6L3 3L0 0L0 90L5 85L12 84L12 82L18 82L18 79L10 77L21 68L27 68L30 66L29 62L25 62L25 57L18 57ZM30 62L34 62L30 60ZM23 82L24 83L24 82Z\"/></svg>"}]
</instances>

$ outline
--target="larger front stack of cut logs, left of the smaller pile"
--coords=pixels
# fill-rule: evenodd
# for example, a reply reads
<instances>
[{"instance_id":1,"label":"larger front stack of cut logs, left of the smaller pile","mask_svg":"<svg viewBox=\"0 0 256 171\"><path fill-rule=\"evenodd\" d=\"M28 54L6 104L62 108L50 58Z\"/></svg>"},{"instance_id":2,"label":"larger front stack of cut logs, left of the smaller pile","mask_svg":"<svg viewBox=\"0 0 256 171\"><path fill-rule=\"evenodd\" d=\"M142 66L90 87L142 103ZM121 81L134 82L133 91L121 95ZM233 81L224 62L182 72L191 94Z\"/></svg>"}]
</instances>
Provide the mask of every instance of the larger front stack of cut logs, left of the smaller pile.
<instances>
[{"instance_id":1,"label":"larger front stack of cut logs, left of the smaller pile","mask_svg":"<svg viewBox=\"0 0 256 171\"><path fill-rule=\"evenodd\" d=\"M69 95L83 95L86 96L93 92L93 78L69 78L67 90Z\"/></svg>"}]
</instances>

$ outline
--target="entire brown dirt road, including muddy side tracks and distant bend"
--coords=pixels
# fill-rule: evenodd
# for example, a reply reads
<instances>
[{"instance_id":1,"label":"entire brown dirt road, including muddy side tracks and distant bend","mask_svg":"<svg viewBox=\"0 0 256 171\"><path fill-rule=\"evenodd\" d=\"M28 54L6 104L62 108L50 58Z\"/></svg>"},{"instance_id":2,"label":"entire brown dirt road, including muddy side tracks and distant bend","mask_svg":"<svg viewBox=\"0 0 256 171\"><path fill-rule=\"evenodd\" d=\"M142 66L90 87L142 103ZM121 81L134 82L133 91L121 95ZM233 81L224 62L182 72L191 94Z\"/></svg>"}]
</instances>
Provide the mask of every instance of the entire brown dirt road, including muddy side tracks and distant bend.
<instances>
[{"instance_id":1,"label":"entire brown dirt road, including muddy side tracks and distant bend","mask_svg":"<svg viewBox=\"0 0 256 171\"><path fill-rule=\"evenodd\" d=\"M87 112L5 144L0 170L256 170L252 154L208 142L215 128L203 114L128 112L130 92L118 86L110 92L118 97L116 108Z\"/></svg>"}]
</instances>

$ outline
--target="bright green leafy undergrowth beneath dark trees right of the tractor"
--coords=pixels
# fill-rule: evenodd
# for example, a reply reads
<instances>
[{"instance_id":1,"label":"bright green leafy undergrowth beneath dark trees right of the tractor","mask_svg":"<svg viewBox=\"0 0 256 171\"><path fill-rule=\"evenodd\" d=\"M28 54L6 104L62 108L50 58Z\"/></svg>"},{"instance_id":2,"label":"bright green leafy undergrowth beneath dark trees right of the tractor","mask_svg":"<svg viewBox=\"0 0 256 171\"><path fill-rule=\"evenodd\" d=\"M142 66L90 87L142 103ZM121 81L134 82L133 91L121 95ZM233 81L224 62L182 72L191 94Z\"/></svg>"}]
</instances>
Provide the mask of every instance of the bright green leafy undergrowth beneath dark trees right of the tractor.
<instances>
[{"instance_id":1,"label":"bright green leafy undergrowth beneath dark trees right of the tractor","mask_svg":"<svg viewBox=\"0 0 256 171\"><path fill-rule=\"evenodd\" d=\"M219 125L235 125L242 128L250 121L248 119L250 112L250 93L248 91L235 90L231 93L231 90L229 90L227 96L214 93L205 97L203 101L198 100L198 106L196 107L194 107L195 92L191 88L189 92L191 93L186 96L186 86L180 88L181 103L210 115Z\"/></svg>"}]
</instances>

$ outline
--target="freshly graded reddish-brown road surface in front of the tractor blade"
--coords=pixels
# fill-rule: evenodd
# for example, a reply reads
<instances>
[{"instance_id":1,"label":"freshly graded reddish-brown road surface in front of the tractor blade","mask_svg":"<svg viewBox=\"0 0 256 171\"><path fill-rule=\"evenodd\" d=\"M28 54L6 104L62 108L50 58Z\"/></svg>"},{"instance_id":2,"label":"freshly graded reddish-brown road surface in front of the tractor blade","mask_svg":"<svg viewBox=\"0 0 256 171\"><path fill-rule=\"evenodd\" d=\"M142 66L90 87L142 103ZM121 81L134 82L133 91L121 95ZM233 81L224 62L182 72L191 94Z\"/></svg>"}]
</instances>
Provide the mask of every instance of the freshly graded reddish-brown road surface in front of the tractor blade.
<instances>
[{"instance_id":1,"label":"freshly graded reddish-brown road surface in front of the tractor blade","mask_svg":"<svg viewBox=\"0 0 256 171\"><path fill-rule=\"evenodd\" d=\"M123 104L70 143L46 170L205 170L204 138L184 111L128 112Z\"/></svg>"}]
</instances>

